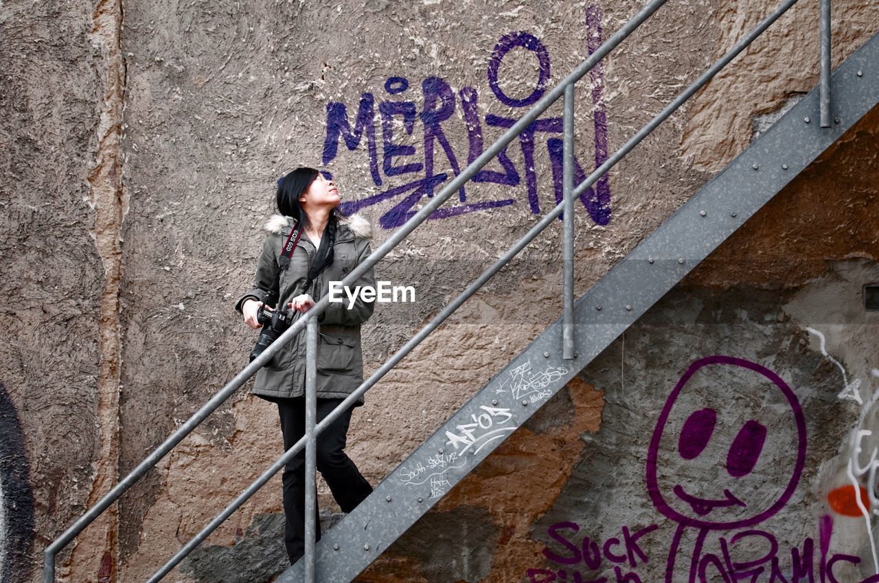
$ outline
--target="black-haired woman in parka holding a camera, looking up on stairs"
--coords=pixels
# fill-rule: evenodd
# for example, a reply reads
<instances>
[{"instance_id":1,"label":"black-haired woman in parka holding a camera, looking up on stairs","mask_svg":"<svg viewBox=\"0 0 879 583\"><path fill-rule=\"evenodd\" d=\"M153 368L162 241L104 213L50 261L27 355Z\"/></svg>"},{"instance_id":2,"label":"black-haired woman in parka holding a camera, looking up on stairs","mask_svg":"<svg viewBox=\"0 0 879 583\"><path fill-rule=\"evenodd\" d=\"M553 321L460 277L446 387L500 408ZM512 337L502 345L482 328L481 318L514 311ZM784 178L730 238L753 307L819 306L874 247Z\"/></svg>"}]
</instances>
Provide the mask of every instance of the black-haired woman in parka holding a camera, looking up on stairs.
<instances>
[{"instance_id":1,"label":"black-haired woman in parka holding a camera, looking up on stairs","mask_svg":"<svg viewBox=\"0 0 879 583\"><path fill-rule=\"evenodd\" d=\"M259 257L254 289L236 304L244 322L258 328L260 306L287 306L304 313L329 290L331 281L341 281L369 256L370 226L358 215L345 218L338 212L336 185L316 169L298 168L281 178L277 204L280 214L265 225L269 232ZM287 269L279 257L294 224L301 227L301 238L294 248ZM355 283L375 285L368 270ZM353 285L351 286L353 289ZM363 356L360 353L360 324L373 313L373 303L358 299L331 303L318 317L317 422L342 402L363 382ZM296 335L257 373L252 392L278 405L284 449L294 445L305 433L305 333ZM357 405L362 404L362 399ZM317 439L317 470L323 474L343 512L351 512L372 486L345 455L345 434L351 421L349 408ZM284 514L287 525L284 543L293 565L305 552L305 454L294 457L284 468ZM316 522L320 537L320 522Z\"/></svg>"}]
</instances>

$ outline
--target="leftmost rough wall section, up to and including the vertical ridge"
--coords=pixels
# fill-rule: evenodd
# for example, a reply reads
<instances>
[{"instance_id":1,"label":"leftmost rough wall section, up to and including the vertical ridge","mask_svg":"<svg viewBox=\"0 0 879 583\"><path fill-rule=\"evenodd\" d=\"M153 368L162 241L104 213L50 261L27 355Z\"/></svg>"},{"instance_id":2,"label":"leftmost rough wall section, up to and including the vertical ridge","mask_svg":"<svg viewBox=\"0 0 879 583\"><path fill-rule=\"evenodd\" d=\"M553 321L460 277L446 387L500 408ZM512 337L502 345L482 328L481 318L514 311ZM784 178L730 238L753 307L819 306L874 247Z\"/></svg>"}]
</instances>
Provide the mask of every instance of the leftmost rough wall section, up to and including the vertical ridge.
<instances>
[{"instance_id":1,"label":"leftmost rough wall section, up to and including the vertical ridge","mask_svg":"<svg viewBox=\"0 0 879 583\"><path fill-rule=\"evenodd\" d=\"M105 11L0 5L0 382L24 434L34 529L12 580L41 578L32 567L43 547L116 476L121 73L118 22ZM0 481L16 475L0 465ZM4 524L2 536L30 526ZM78 540L88 551L72 564L62 553L59 574L111 580L114 529L113 515L95 524Z\"/></svg>"}]
</instances>

